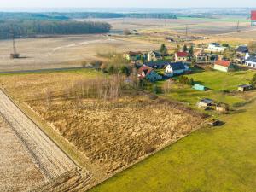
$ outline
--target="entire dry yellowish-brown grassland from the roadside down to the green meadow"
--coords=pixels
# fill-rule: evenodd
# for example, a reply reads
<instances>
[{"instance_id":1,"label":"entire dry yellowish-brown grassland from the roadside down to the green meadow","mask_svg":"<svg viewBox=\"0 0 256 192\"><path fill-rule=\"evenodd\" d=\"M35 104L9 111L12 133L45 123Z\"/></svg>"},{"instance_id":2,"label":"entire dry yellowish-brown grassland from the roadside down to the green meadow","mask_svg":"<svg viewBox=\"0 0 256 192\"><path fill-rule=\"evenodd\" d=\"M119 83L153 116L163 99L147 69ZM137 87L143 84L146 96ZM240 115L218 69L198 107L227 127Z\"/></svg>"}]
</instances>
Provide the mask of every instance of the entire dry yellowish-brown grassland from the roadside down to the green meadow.
<instances>
[{"instance_id":1,"label":"entire dry yellowish-brown grassland from the roadside down to the green meadow","mask_svg":"<svg viewBox=\"0 0 256 192\"><path fill-rule=\"evenodd\" d=\"M94 77L92 70L83 72L7 75L0 80L17 102L30 106L92 166L101 167L102 179L195 131L203 121L201 114L181 104L153 101L144 94L113 101L81 99L78 106L63 94L78 80ZM52 90L50 104L45 89Z\"/></svg>"}]
</instances>

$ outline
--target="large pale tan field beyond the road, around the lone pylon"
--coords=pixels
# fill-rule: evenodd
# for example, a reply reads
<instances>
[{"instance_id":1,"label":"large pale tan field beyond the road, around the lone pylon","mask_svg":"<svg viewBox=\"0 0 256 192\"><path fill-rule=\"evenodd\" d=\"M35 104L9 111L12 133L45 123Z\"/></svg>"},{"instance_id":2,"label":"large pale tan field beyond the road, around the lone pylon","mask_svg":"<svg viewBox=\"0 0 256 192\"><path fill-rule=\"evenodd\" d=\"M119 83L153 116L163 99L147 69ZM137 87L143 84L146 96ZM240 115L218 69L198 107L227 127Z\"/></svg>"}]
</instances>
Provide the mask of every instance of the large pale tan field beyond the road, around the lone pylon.
<instances>
[{"instance_id":1,"label":"large pale tan field beyond the road, around the lone pylon","mask_svg":"<svg viewBox=\"0 0 256 192\"><path fill-rule=\"evenodd\" d=\"M81 67L81 61L99 59L97 53L158 49L158 44L103 37L102 35L57 36L16 39L20 58L9 59L12 41L0 41L0 72L40 68Z\"/></svg>"}]
</instances>

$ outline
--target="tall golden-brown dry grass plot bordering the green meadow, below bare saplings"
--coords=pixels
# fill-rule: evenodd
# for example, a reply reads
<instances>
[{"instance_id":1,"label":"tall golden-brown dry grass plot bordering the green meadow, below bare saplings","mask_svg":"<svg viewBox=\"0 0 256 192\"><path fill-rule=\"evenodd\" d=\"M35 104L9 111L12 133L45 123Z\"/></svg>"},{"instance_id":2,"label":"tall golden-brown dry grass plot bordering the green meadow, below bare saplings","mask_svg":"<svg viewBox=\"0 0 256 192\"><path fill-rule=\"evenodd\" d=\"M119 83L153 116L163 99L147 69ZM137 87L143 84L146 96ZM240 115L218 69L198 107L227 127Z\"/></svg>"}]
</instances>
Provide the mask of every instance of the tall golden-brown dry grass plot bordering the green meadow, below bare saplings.
<instances>
[{"instance_id":1,"label":"tall golden-brown dry grass plot bordering the green meadow, below bare saplings","mask_svg":"<svg viewBox=\"0 0 256 192\"><path fill-rule=\"evenodd\" d=\"M79 108L76 101L65 99L50 106L44 101L28 104L106 173L131 165L201 123L198 114L146 96L110 102L84 99Z\"/></svg>"}]
</instances>

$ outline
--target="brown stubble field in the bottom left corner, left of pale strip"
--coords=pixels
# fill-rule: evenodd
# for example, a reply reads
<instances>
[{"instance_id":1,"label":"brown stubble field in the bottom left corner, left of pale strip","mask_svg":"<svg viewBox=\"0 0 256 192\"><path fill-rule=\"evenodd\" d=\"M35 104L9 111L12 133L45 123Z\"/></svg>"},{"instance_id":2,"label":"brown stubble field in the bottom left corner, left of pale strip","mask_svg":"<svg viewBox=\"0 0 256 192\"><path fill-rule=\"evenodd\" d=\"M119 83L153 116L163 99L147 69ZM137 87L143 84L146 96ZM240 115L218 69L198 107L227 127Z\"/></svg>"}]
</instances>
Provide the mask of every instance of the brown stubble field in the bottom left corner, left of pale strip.
<instances>
[{"instance_id":1,"label":"brown stubble field in the bottom left corner, left of pale strip","mask_svg":"<svg viewBox=\"0 0 256 192\"><path fill-rule=\"evenodd\" d=\"M31 155L0 115L0 191L27 191L44 183Z\"/></svg>"}]
</instances>

